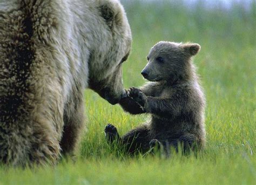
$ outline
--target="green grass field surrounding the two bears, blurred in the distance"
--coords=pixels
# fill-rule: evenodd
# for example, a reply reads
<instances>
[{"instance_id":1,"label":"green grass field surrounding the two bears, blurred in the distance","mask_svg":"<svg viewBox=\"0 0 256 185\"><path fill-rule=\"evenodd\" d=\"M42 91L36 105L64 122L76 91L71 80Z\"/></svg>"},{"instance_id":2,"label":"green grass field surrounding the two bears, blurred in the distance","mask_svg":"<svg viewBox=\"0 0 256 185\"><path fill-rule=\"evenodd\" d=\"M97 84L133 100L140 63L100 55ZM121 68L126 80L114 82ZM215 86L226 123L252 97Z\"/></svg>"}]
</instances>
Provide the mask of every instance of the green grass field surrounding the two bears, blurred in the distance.
<instances>
[{"instance_id":1,"label":"green grass field surrounding the two bears, blurred in the distance","mask_svg":"<svg viewBox=\"0 0 256 185\"><path fill-rule=\"evenodd\" d=\"M124 3L133 33L132 52L123 66L125 87L140 86L146 56L159 40L196 42L194 59L206 98L207 146L197 157L129 157L111 151L104 126L121 134L146 115L132 116L85 91L87 131L79 159L56 167L0 168L0 184L256 184L256 5L207 10L172 3Z\"/></svg>"}]
</instances>

